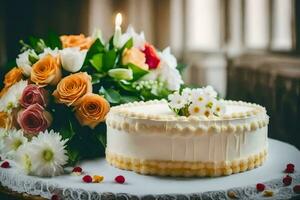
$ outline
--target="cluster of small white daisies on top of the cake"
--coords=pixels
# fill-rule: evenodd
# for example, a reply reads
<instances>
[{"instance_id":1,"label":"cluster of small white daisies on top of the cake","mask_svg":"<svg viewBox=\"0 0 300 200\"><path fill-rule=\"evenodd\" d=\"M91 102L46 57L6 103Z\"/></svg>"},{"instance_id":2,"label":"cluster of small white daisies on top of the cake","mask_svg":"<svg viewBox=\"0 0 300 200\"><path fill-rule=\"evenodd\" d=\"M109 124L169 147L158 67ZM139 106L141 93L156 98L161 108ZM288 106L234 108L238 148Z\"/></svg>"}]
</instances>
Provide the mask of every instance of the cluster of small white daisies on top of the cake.
<instances>
[{"instance_id":1,"label":"cluster of small white daisies on top of the cake","mask_svg":"<svg viewBox=\"0 0 300 200\"><path fill-rule=\"evenodd\" d=\"M221 117L226 109L212 86L196 89L185 88L170 94L168 99L169 107L179 116Z\"/></svg>"}]
</instances>

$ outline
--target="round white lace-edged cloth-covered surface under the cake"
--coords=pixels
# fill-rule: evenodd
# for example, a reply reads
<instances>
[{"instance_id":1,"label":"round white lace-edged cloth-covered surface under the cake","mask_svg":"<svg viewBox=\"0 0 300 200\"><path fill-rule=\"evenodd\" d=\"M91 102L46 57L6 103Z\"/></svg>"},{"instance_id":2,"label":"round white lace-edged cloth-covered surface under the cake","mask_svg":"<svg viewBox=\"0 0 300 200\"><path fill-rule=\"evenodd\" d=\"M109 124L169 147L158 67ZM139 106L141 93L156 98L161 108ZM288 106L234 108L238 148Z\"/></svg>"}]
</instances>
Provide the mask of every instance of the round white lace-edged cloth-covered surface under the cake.
<instances>
[{"instance_id":1,"label":"round white lace-edged cloth-covered surface under the cake","mask_svg":"<svg viewBox=\"0 0 300 200\"><path fill-rule=\"evenodd\" d=\"M101 183L84 183L82 176L66 174L39 178L22 174L11 162L9 169L0 169L1 185L29 195L60 199L290 199L300 198L293 186L300 184L300 151L294 146L269 139L269 154L259 168L215 178L174 178L139 175L108 165L104 158L80 163L85 174L102 175ZM290 174L293 182L284 186L282 178L287 163L295 164ZM114 181L123 175L124 184ZM257 192L256 184L264 183L268 194ZM269 197L267 197L269 195Z\"/></svg>"}]
</instances>

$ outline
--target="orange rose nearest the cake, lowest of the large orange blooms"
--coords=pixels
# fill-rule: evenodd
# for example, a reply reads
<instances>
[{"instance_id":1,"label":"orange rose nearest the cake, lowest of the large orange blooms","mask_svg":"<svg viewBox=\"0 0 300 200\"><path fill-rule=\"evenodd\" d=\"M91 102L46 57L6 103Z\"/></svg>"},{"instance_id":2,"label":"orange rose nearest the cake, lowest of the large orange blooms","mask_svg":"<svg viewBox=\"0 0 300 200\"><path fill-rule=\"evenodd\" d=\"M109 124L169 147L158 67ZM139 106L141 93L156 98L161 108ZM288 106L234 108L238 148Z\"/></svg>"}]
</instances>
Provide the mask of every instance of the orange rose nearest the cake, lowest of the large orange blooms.
<instances>
[{"instance_id":1,"label":"orange rose nearest the cake, lowest of the large orange blooms","mask_svg":"<svg viewBox=\"0 0 300 200\"><path fill-rule=\"evenodd\" d=\"M75 116L82 126L94 129L110 109L109 103L100 95L87 94L83 96L75 106Z\"/></svg>"}]
</instances>

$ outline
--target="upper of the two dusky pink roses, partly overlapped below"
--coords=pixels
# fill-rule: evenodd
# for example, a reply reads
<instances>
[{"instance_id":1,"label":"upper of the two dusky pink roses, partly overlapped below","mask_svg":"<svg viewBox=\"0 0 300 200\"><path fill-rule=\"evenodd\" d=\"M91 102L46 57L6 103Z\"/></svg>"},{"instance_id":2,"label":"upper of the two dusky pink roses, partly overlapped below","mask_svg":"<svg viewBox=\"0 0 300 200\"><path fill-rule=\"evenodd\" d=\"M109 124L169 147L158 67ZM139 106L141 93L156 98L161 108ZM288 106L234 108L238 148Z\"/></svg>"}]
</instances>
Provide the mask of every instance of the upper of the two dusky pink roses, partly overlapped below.
<instances>
[{"instance_id":1,"label":"upper of the two dusky pink roses, partly overlapped below","mask_svg":"<svg viewBox=\"0 0 300 200\"><path fill-rule=\"evenodd\" d=\"M48 104L48 92L38 85L28 85L22 93L20 104L27 108L36 103L46 107Z\"/></svg>"}]
</instances>

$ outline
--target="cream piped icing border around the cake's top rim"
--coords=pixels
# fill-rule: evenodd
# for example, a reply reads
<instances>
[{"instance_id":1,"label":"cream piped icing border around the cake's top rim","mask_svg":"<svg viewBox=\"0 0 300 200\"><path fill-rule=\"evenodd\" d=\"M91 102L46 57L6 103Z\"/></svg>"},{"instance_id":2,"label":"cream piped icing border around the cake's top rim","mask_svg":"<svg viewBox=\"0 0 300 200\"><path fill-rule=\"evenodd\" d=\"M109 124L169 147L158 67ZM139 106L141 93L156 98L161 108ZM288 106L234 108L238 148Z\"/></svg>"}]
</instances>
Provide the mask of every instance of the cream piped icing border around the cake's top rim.
<instances>
[{"instance_id":1,"label":"cream piped icing border around the cake's top rim","mask_svg":"<svg viewBox=\"0 0 300 200\"><path fill-rule=\"evenodd\" d=\"M232 113L218 119L200 119L195 116L146 115L129 110L140 105L167 103L165 100L134 102L113 107L107 117L108 127L128 133L203 134L252 132L268 125L266 109L242 101L224 101L227 105L252 107L250 111ZM132 109L134 110L134 109Z\"/></svg>"}]
</instances>

